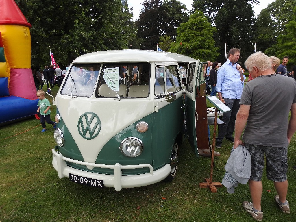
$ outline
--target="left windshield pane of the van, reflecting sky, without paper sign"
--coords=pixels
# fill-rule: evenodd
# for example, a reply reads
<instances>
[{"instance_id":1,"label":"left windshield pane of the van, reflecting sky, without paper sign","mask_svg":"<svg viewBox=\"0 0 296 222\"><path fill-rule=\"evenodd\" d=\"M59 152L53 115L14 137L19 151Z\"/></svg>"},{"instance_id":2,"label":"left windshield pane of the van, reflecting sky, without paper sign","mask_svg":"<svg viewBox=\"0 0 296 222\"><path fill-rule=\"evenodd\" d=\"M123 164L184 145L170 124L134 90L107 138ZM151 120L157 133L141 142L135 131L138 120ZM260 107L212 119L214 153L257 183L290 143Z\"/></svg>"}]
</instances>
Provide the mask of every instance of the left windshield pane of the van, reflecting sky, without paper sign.
<instances>
[{"instance_id":1,"label":"left windshield pane of the van, reflecting sky, without paper sign","mask_svg":"<svg viewBox=\"0 0 296 222\"><path fill-rule=\"evenodd\" d=\"M100 65L73 65L61 91L62 95L90 97L94 93Z\"/></svg>"}]
</instances>

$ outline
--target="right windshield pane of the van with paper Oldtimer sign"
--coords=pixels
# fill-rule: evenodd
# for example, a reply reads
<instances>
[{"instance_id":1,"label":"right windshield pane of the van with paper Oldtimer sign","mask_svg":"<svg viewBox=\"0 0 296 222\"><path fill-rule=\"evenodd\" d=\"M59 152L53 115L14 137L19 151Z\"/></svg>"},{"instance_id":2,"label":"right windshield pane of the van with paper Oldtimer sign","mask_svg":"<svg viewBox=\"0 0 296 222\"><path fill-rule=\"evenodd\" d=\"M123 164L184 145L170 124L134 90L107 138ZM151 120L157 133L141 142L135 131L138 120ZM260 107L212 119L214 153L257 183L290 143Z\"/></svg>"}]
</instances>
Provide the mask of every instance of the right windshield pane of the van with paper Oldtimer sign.
<instances>
[{"instance_id":1,"label":"right windshield pane of the van with paper Oldtimer sign","mask_svg":"<svg viewBox=\"0 0 296 222\"><path fill-rule=\"evenodd\" d=\"M149 63L104 64L95 95L98 98L147 98L150 69Z\"/></svg>"}]
</instances>

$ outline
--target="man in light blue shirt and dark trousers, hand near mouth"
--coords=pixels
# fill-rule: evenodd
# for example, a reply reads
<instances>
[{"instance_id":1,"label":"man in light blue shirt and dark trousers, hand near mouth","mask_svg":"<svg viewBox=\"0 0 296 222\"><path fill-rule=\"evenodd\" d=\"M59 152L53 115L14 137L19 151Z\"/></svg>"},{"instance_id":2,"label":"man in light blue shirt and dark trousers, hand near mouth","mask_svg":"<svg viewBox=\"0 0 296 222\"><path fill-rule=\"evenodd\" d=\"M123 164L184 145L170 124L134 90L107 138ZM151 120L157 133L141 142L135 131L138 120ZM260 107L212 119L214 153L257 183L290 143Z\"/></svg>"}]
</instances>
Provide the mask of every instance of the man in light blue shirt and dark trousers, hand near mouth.
<instances>
[{"instance_id":1,"label":"man in light blue shirt and dark trousers, hand near mouth","mask_svg":"<svg viewBox=\"0 0 296 222\"><path fill-rule=\"evenodd\" d=\"M234 123L239 110L239 101L242 96L242 67L237 64L240 50L232 48L228 52L227 61L219 68L216 84L216 91L221 102L225 103L231 111L223 113L222 121L225 123L219 126L218 136L216 138L216 147L222 147L222 140L228 139L234 143L232 136L234 132Z\"/></svg>"}]
</instances>

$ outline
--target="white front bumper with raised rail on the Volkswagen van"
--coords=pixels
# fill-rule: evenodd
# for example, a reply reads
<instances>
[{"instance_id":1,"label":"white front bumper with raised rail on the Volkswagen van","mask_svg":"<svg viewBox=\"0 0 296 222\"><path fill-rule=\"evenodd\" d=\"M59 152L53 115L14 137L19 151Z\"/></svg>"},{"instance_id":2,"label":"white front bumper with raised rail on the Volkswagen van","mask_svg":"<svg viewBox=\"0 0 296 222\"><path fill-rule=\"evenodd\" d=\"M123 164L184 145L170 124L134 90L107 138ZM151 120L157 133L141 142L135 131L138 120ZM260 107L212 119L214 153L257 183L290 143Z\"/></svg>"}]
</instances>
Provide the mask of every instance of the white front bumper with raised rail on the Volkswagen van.
<instances>
[{"instance_id":1,"label":"white front bumper with raised rail on the Volkswagen van","mask_svg":"<svg viewBox=\"0 0 296 222\"><path fill-rule=\"evenodd\" d=\"M122 188L139 187L139 186L147 186L150 184L155 184L159 181L162 181L171 172L171 167L169 164L166 164L164 167L160 168L159 170L154 171L153 167L150 164L120 165L119 163L116 163L115 165L103 165L103 164L96 164L96 163L86 163L86 162L64 157L62 154L58 153L54 149L52 149L52 155L53 155L52 165L54 169L57 170L59 178L63 178L63 177L69 178L69 173L71 173L77 176L103 180L104 186L114 187L116 191L120 191ZM78 169L67 166L65 161L80 164L80 165L85 165L90 168L99 167L99 168L113 169L114 175L106 175L106 174L87 172L84 170L78 170ZM144 167L149 168L150 173L122 176L121 169L135 169L135 168L144 168Z\"/></svg>"}]
</instances>

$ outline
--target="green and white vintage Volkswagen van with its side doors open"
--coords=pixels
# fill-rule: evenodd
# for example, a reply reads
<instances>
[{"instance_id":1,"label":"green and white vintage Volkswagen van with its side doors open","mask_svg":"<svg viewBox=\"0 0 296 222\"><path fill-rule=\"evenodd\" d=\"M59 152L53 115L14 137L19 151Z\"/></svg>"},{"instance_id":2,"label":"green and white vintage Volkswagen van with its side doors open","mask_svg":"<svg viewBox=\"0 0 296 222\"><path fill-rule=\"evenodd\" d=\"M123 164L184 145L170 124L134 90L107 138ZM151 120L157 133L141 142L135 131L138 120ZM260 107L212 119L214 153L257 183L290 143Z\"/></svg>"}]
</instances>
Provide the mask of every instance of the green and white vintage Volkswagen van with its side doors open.
<instances>
[{"instance_id":1,"label":"green and white vintage Volkswagen van with its side doors open","mask_svg":"<svg viewBox=\"0 0 296 222\"><path fill-rule=\"evenodd\" d=\"M149 50L76 58L55 101L52 165L59 178L116 191L171 181L187 136L198 155L195 94L205 91L205 65Z\"/></svg>"}]
</instances>

